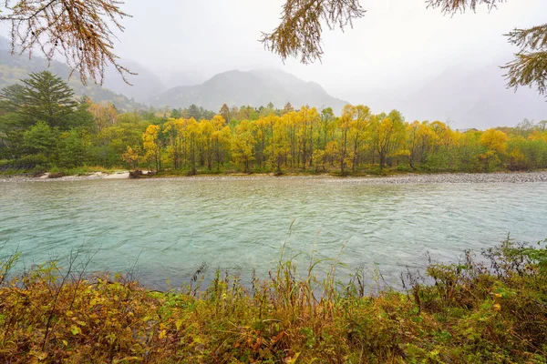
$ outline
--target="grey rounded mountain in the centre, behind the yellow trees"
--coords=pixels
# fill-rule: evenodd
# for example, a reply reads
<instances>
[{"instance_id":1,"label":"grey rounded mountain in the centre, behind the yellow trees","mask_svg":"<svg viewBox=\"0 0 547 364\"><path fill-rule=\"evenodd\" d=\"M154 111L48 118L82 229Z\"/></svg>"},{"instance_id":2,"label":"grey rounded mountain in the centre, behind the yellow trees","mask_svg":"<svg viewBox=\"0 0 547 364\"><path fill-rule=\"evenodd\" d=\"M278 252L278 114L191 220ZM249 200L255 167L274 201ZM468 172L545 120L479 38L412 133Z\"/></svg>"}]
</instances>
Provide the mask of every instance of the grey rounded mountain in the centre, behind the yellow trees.
<instances>
[{"instance_id":1,"label":"grey rounded mountain in the centre, behind the yellow trees","mask_svg":"<svg viewBox=\"0 0 547 364\"><path fill-rule=\"evenodd\" d=\"M347 104L328 95L315 82L305 82L280 70L228 71L212 76L201 85L170 88L151 100L154 106L187 107L195 104L210 110L218 110L224 103L258 107L270 102L277 107L283 107L287 102L295 107L330 106L336 114Z\"/></svg>"}]
</instances>

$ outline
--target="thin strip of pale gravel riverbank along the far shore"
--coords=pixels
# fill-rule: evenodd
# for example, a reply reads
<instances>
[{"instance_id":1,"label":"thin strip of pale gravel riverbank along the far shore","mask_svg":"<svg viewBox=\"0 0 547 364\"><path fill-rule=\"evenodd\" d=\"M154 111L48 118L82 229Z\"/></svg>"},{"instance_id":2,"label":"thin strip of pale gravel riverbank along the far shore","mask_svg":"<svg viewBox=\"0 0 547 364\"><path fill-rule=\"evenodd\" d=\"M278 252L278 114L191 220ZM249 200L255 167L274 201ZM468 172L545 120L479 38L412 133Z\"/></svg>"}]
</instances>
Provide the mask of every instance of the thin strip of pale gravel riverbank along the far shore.
<instances>
[{"instance_id":1,"label":"thin strip of pale gravel riverbank along the far shore","mask_svg":"<svg viewBox=\"0 0 547 364\"><path fill-rule=\"evenodd\" d=\"M0 175L0 182L51 182L51 181L79 181L95 179L129 179L129 171L116 173L95 172L86 176L49 177L44 174L40 177ZM440 174L400 174L392 176L366 177L335 177L331 175L284 175L273 174L253 175L200 175L192 177L146 177L139 180L195 180L195 181L222 181L222 180L261 180L261 179L302 179L321 180L332 183L355 184L439 184L439 183L530 183L547 182L547 171L536 172L498 172L498 173L440 173Z\"/></svg>"}]
</instances>

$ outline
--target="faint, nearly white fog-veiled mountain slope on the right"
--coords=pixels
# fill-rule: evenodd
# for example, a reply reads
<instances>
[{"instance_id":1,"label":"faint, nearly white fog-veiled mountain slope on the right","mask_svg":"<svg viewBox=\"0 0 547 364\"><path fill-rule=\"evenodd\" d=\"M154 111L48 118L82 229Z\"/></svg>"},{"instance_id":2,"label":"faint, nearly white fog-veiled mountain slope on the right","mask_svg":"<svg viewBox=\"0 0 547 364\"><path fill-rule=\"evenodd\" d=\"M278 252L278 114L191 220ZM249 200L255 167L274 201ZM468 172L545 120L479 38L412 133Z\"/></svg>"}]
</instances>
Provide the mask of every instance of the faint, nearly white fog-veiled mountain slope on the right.
<instances>
[{"instance_id":1,"label":"faint, nearly white fog-veiled mountain slope on the right","mask_svg":"<svg viewBox=\"0 0 547 364\"><path fill-rule=\"evenodd\" d=\"M501 63L500 63L501 64ZM467 70L452 67L400 100L405 115L447 120L455 127L514 126L523 118L547 118L547 103L534 89L507 89L496 65Z\"/></svg>"}]
</instances>

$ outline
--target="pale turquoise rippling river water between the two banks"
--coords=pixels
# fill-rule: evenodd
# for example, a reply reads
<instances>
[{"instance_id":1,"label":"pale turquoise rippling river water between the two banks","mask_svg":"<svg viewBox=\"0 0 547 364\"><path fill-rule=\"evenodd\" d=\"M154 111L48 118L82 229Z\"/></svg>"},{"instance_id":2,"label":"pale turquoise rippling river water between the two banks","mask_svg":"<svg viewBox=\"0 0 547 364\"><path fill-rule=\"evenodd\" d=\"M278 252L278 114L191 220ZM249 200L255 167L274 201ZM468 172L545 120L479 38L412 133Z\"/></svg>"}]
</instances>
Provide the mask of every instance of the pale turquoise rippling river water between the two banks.
<instances>
[{"instance_id":1,"label":"pale turquoise rippling river water between the two banks","mask_svg":"<svg viewBox=\"0 0 547 364\"><path fill-rule=\"evenodd\" d=\"M209 268L265 274L292 253L364 265L394 280L432 258L456 260L511 232L547 238L547 184L359 185L339 179L91 180L0 184L0 243L26 265L83 247L92 269L138 259L144 281ZM294 221L291 231L289 227ZM305 255L296 258L305 261Z\"/></svg>"}]
</instances>

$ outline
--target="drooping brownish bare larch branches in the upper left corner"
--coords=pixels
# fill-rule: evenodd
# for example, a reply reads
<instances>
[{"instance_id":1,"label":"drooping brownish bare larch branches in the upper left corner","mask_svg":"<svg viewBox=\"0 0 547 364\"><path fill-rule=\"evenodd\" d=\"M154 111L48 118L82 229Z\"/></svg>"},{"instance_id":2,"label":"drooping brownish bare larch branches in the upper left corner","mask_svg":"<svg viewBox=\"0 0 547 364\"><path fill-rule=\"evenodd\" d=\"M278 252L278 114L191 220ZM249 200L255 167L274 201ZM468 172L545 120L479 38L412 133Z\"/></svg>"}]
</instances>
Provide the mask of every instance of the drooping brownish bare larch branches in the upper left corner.
<instances>
[{"instance_id":1,"label":"drooping brownish bare larch branches in the upper left corner","mask_svg":"<svg viewBox=\"0 0 547 364\"><path fill-rule=\"evenodd\" d=\"M0 20L11 23L12 53L28 53L36 48L48 61L62 56L86 85L88 78L101 84L105 69L112 65L129 84L128 68L119 65L113 53L112 31L123 31L119 23L127 15L118 0L5 0L7 15Z\"/></svg>"}]
</instances>

